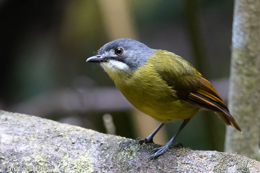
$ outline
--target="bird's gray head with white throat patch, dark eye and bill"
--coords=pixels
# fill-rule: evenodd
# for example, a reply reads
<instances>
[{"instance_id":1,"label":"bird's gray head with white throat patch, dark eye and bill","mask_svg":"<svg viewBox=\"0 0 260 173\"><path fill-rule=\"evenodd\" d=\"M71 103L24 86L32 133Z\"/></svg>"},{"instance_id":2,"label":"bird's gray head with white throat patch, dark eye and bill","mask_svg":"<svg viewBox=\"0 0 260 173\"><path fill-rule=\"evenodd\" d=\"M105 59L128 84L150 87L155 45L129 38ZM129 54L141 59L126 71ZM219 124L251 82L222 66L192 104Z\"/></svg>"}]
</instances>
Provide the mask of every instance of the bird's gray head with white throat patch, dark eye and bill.
<instances>
[{"instance_id":1,"label":"bird's gray head with white throat patch, dark eye and bill","mask_svg":"<svg viewBox=\"0 0 260 173\"><path fill-rule=\"evenodd\" d=\"M154 51L136 40L120 38L102 46L96 56L88 58L87 62L101 63L105 70L135 71L144 65Z\"/></svg>"}]
</instances>

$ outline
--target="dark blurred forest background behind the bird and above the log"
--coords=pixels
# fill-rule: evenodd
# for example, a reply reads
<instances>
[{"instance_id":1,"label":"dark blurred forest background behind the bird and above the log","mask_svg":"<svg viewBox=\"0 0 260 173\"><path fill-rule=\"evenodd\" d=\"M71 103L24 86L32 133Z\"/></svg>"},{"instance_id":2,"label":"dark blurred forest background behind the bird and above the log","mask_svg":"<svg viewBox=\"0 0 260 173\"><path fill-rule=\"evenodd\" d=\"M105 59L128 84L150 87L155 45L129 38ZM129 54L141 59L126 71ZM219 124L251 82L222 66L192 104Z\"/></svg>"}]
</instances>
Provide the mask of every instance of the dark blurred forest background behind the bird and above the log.
<instances>
[{"instance_id":1,"label":"dark blurred forest background behind the bird and above the log","mask_svg":"<svg viewBox=\"0 0 260 173\"><path fill-rule=\"evenodd\" d=\"M105 43L132 38L192 63L226 102L233 1L0 1L0 109L127 138L159 122L136 110L99 65L86 63ZM165 144L181 125L155 137ZM196 150L224 148L225 125L196 114L176 141Z\"/></svg>"}]
</instances>

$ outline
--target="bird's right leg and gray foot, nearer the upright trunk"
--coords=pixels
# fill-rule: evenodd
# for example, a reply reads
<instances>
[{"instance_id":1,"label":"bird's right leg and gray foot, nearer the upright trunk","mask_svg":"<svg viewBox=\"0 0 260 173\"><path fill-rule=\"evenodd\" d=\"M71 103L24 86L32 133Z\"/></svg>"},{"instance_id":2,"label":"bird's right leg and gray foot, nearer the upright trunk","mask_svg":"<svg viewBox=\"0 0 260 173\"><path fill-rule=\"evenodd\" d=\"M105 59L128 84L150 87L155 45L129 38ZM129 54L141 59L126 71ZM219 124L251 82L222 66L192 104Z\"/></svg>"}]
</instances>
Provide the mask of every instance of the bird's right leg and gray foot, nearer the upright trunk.
<instances>
[{"instance_id":1,"label":"bird's right leg and gray foot, nearer the upright trunk","mask_svg":"<svg viewBox=\"0 0 260 173\"><path fill-rule=\"evenodd\" d=\"M173 140L176 138L176 136L180 133L180 131L183 129L183 127L190 121L189 119L185 119L183 123L181 124L181 127L177 130L177 132L174 134L174 136L171 138L169 142L167 142L164 146L161 146L159 148L155 148L152 150L152 155L149 157L149 159L155 159L156 157L159 157L162 155L165 151L167 151L169 148L172 147L179 147L182 146L181 143L173 143Z\"/></svg>"}]
</instances>

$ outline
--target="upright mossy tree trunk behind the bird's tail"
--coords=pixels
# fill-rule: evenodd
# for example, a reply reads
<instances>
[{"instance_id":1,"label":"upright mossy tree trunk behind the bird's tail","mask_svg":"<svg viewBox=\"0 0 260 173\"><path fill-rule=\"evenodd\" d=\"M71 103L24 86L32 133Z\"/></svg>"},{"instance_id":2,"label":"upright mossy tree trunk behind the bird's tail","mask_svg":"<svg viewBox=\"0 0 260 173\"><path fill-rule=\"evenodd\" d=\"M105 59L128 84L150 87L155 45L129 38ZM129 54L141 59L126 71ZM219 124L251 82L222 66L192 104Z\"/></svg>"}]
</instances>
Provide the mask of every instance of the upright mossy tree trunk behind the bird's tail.
<instances>
[{"instance_id":1,"label":"upright mossy tree trunk behind the bird's tail","mask_svg":"<svg viewBox=\"0 0 260 173\"><path fill-rule=\"evenodd\" d=\"M235 0L229 109L242 134L227 127L226 152L260 160L260 1Z\"/></svg>"}]
</instances>

